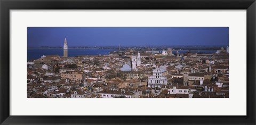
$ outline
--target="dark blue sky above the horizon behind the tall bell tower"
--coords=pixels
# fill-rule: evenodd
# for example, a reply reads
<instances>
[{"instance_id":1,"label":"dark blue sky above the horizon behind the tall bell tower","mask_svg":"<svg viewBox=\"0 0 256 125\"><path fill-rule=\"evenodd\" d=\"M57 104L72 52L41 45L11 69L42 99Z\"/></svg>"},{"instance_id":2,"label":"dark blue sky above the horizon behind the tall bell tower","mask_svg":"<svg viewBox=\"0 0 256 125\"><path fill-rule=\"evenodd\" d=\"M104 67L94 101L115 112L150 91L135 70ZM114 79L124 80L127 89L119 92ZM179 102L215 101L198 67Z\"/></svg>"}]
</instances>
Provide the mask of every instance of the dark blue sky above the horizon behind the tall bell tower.
<instances>
[{"instance_id":1,"label":"dark blue sky above the horizon behind the tall bell tower","mask_svg":"<svg viewBox=\"0 0 256 125\"><path fill-rule=\"evenodd\" d=\"M28 47L201 45L226 46L228 27L28 27Z\"/></svg>"}]
</instances>

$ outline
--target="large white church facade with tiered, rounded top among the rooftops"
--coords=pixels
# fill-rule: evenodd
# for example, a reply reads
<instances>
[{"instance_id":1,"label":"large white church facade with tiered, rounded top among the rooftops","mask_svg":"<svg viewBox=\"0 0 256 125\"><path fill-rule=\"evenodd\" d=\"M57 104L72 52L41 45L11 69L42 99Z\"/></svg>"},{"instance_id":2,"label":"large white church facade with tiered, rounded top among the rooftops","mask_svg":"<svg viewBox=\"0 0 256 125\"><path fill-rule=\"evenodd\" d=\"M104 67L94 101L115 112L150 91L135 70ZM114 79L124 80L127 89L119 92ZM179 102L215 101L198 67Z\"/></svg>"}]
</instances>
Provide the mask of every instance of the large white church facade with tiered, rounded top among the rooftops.
<instances>
[{"instance_id":1,"label":"large white church facade with tiered, rounded top among the rooftops","mask_svg":"<svg viewBox=\"0 0 256 125\"><path fill-rule=\"evenodd\" d=\"M156 68L153 71L153 75L148 77L148 87L162 87L162 85L167 85L166 72L164 69Z\"/></svg>"}]
</instances>

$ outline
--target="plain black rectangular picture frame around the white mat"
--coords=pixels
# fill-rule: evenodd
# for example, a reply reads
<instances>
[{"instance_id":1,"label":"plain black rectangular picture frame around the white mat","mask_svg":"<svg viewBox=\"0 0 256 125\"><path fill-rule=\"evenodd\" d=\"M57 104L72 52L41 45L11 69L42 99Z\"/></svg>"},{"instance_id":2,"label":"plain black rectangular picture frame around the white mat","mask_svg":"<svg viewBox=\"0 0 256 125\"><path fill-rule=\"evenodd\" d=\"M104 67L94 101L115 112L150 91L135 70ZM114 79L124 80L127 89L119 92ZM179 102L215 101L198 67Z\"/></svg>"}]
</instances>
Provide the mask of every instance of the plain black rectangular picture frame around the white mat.
<instances>
[{"instance_id":1,"label":"plain black rectangular picture frame around the white mat","mask_svg":"<svg viewBox=\"0 0 256 125\"><path fill-rule=\"evenodd\" d=\"M256 124L254 0L0 0L0 123L1 124ZM10 10L65 9L206 9L247 10L246 116L13 116L10 115ZM21 105L22 108L22 105ZM235 109L234 109L235 110ZM100 113L100 112L99 112ZM135 115L135 114L134 114Z\"/></svg>"}]
</instances>

